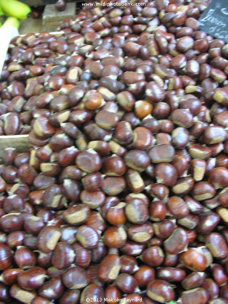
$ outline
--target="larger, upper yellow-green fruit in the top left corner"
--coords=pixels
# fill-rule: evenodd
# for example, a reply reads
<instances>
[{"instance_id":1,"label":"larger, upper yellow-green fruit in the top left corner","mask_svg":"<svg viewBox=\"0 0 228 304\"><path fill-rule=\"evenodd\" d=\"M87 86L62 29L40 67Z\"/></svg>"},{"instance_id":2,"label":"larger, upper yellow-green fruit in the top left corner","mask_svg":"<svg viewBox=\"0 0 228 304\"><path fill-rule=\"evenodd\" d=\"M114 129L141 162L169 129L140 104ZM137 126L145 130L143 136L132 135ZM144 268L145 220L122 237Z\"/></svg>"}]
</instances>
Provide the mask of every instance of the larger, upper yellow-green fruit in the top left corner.
<instances>
[{"instance_id":1,"label":"larger, upper yellow-green fruit in the top left corner","mask_svg":"<svg viewBox=\"0 0 228 304\"><path fill-rule=\"evenodd\" d=\"M31 13L27 4L17 0L0 0L0 6L5 14L19 19L26 19Z\"/></svg>"}]
</instances>

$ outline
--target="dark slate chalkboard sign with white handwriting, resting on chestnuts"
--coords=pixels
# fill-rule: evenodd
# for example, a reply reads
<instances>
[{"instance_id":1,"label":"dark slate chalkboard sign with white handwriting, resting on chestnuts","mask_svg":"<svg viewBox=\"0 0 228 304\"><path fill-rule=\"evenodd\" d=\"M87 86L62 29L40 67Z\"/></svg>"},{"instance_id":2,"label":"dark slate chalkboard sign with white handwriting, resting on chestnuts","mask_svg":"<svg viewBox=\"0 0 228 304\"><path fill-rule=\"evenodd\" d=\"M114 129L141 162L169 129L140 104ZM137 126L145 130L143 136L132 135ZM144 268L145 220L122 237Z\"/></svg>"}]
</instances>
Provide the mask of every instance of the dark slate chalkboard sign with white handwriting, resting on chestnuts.
<instances>
[{"instance_id":1,"label":"dark slate chalkboard sign with white handwriting, resting on chestnuts","mask_svg":"<svg viewBox=\"0 0 228 304\"><path fill-rule=\"evenodd\" d=\"M228 0L212 0L199 21L201 30L228 43Z\"/></svg>"}]
</instances>

